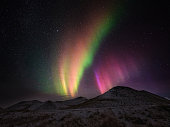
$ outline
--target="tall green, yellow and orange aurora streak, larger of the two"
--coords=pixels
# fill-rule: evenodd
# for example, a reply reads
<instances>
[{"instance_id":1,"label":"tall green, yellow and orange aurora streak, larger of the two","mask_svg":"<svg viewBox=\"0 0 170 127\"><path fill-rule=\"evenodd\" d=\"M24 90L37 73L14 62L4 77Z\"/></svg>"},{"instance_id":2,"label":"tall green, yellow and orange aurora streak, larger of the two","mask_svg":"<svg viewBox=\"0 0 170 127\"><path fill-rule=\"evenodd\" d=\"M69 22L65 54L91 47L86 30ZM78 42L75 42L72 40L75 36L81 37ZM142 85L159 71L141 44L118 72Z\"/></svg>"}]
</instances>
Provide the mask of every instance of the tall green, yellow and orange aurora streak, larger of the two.
<instances>
[{"instance_id":1,"label":"tall green, yellow and orange aurora streak, larger of the two","mask_svg":"<svg viewBox=\"0 0 170 127\"><path fill-rule=\"evenodd\" d=\"M57 93L75 96L84 71L92 64L100 43L115 25L116 13L116 9L92 11L77 31L63 35L62 54L54 79Z\"/></svg>"}]
</instances>

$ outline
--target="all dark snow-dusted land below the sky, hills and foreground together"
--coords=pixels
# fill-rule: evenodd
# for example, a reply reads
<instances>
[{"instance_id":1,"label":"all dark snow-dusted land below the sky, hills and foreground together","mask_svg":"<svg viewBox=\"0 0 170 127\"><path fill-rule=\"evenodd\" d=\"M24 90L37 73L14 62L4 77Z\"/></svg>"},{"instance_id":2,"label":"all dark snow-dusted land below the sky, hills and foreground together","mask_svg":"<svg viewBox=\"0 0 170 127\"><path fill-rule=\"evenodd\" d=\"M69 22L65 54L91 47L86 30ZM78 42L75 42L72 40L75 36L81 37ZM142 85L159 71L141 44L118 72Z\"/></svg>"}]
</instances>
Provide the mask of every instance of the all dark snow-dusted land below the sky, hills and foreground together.
<instances>
[{"instance_id":1,"label":"all dark snow-dusted land below the sky, hills and foreground together","mask_svg":"<svg viewBox=\"0 0 170 127\"><path fill-rule=\"evenodd\" d=\"M170 101L119 86L89 100L17 103L1 110L0 127L170 127Z\"/></svg>"}]
</instances>

